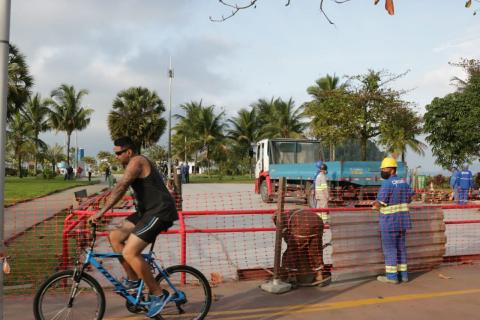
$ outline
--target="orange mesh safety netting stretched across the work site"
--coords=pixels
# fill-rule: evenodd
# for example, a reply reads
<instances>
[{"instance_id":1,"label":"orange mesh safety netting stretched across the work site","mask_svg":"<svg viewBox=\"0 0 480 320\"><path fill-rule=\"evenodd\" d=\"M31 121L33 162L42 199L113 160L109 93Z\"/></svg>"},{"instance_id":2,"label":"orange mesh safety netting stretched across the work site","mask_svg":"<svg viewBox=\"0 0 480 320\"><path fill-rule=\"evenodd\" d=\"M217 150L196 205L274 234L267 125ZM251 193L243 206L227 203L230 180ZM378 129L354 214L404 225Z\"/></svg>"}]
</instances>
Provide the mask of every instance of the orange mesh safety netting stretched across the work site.
<instances>
[{"instance_id":1,"label":"orange mesh safety netting stretched across the work site","mask_svg":"<svg viewBox=\"0 0 480 320\"><path fill-rule=\"evenodd\" d=\"M277 203L263 203L252 191L224 189L185 193L180 220L157 238L157 257L165 266L192 265L214 282L270 276L276 230L272 215ZM79 255L83 258L82 249L89 243L86 218L106 197L108 193L82 199L74 210L65 210L71 199L36 200L6 208L5 239L12 272L4 278L5 294L33 293L47 276L71 268ZM355 207L358 194L347 200L344 191L331 192L329 208L314 210L305 201L287 198L281 215L280 276L310 284L330 275L342 280L383 273L379 214L370 208L376 194L364 191L362 197L365 203L360 205L368 207ZM417 195L411 204L412 229L407 232L409 270L480 257L479 209L475 202L456 206L448 199ZM97 251L111 251L106 234L133 211L127 197L107 214ZM324 220L321 212L327 213ZM123 277L118 261L105 260L104 266Z\"/></svg>"}]
</instances>

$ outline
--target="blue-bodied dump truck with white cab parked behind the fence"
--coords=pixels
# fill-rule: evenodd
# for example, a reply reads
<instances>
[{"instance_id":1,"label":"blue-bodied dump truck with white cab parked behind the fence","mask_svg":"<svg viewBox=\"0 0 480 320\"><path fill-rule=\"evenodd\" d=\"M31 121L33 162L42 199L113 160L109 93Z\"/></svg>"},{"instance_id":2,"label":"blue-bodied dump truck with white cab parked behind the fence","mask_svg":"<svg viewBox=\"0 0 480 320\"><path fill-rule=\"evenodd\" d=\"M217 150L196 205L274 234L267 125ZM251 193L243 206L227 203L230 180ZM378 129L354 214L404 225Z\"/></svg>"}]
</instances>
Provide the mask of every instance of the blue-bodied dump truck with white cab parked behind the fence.
<instances>
[{"instance_id":1,"label":"blue-bodied dump truck with white cab parked behind the fence","mask_svg":"<svg viewBox=\"0 0 480 320\"><path fill-rule=\"evenodd\" d=\"M287 180L286 197L314 207L316 162L324 160L322 143L308 139L264 139L255 145L255 193L264 202L276 199L280 177ZM325 161L330 201L342 206L370 205L378 191L380 161ZM406 178L407 168L398 162L397 175Z\"/></svg>"}]
</instances>

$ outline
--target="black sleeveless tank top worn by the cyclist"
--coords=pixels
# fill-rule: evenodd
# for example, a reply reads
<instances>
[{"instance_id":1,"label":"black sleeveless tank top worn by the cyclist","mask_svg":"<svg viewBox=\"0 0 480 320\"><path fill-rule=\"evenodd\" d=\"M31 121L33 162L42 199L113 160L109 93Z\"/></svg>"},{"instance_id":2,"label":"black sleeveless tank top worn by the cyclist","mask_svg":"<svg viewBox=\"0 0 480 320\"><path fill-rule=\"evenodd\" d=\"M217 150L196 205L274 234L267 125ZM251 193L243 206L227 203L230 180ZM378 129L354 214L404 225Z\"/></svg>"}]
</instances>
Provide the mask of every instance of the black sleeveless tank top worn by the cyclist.
<instances>
[{"instance_id":1,"label":"black sleeveless tank top worn by the cyclist","mask_svg":"<svg viewBox=\"0 0 480 320\"><path fill-rule=\"evenodd\" d=\"M137 200L137 210L141 214L153 214L163 221L178 220L175 201L160 173L150 160L144 158L150 165L150 174L145 178L135 179L131 185Z\"/></svg>"}]
</instances>

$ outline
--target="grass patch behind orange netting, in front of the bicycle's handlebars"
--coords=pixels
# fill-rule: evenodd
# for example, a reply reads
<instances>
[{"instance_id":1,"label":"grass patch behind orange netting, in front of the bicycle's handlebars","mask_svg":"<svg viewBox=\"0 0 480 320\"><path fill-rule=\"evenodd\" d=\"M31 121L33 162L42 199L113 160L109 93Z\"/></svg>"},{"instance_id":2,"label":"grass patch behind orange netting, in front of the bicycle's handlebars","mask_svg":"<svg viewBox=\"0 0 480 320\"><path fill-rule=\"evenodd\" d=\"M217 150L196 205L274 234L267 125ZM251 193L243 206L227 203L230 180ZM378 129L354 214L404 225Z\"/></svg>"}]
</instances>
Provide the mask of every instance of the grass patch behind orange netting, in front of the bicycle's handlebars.
<instances>
[{"instance_id":1,"label":"grass patch behind orange netting, in front of the bicycle's handlebars","mask_svg":"<svg viewBox=\"0 0 480 320\"><path fill-rule=\"evenodd\" d=\"M60 264L62 231L66 212L38 224L6 247L11 273L4 275L6 294L32 293ZM75 257L76 241L70 238L70 257ZM8 288L10 287L10 288Z\"/></svg>"}]
</instances>

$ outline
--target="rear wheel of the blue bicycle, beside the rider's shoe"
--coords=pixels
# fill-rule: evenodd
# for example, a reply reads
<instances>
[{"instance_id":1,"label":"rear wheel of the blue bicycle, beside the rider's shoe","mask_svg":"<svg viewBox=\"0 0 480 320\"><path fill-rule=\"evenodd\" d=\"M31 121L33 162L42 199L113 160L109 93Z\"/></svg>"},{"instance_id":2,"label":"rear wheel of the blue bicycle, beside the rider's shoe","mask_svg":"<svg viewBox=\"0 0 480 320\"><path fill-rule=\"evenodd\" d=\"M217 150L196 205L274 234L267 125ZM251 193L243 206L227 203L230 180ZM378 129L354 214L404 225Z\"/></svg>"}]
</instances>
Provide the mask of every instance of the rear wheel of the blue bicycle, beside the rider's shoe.
<instances>
[{"instance_id":1,"label":"rear wheel of the blue bicycle, beside the rider's shoe","mask_svg":"<svg viewBox=\"0 0 480 320\"><path fill-rule=\"evenodd\" d=\"M189 266L173 266L165 271L170 282L185 297L175 295L163 274L158 275L156 280L162 289L167 289L170 294L174 294L172 301L165 306L161 313L163 319L204 319L212 304L212 290L205 276ZM182 313L180 310L184 312Z\"/></svg>"}]
</instances>

